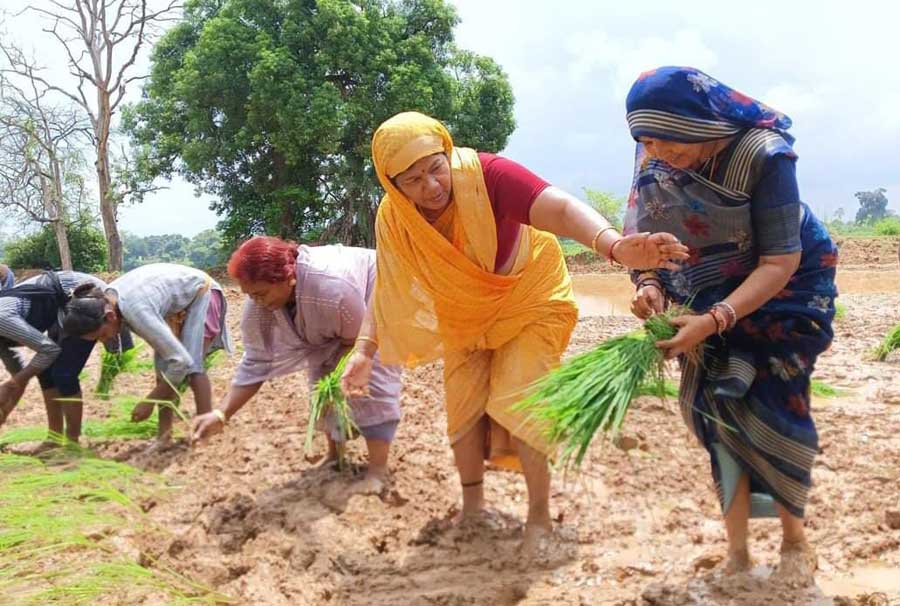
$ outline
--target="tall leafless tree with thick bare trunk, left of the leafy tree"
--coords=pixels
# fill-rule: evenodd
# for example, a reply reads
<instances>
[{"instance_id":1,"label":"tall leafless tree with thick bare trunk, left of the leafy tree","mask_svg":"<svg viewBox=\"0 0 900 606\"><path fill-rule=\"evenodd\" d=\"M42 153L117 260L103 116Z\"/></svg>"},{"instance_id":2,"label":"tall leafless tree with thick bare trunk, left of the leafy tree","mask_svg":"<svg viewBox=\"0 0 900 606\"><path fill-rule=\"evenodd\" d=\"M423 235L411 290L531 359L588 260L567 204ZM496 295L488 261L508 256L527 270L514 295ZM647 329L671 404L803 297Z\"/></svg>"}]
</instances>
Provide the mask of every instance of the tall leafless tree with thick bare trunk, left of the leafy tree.
<instances>
[{"instance_id":1,"label":"tall leafless tree with thick bare trunk, left of the leafy tree","mask_svg":"<svg viewBox=\"0 0 900 606\"><path fill-rule=\"evenodd\" d=\"M74 90L37 75L40 70L21 55L11 61L11 70L18 74L30 71L33 79L71 99L88 116L109 269L118 271L122 269L123 250L116 212L121 195L112 189L109 150L113 116L129 84L146 77L131 75L141 47L157 33L161 23L174 18L181 5L178 0L161 0L158 9L149 8L148 0L53 0L49 5L28 6L26 10L47 20L49 26L43 31L65 52L69 73L76 82ZM91 93L93 101L88 100Z\"/></svg>"}]
</instances>

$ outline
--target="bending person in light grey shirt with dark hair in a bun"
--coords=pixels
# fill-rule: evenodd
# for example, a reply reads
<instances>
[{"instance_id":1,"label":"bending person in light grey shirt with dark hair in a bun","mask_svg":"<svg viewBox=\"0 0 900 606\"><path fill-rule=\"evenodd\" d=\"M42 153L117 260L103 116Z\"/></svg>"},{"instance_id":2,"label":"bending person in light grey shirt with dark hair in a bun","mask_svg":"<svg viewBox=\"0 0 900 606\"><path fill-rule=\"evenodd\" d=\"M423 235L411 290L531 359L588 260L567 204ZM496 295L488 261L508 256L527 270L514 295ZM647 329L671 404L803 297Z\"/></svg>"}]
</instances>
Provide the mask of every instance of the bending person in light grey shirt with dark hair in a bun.
<instances>
[{"instance_id":1,"label":"bending person in light grey shirt with dark hair in a bun","mask_svg":"<svg viewBox=\"0 0 900 606\"><path fill-rule=\"evenodd\" d=\"M212 409L212 386L203 360L216 349L231 351L225 312L222 287L206 273L151 263L129 271L105 290L76 293L63 326L67 334L96 340L107 339L126 325L153 348L156 386L132 411L132 420L141 421L152 414L156 402L175 402L177 388L185 380L197 414ZM172 421L172 407L160 406L160 442L171 438Z\"/></svg>"}]
</instances>

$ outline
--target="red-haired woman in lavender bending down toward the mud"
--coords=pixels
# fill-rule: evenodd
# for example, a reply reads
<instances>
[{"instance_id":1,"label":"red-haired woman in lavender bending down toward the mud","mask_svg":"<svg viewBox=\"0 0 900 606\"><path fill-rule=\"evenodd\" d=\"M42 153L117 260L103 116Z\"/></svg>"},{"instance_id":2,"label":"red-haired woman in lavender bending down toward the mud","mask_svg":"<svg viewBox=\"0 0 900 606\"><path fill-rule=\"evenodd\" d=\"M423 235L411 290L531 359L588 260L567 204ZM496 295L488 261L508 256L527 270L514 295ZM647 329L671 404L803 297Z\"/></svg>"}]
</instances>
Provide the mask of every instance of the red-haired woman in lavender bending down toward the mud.
<instances>
[{"instance_id":1,"label":"red-haired woman in lavender bending down toward the mud","mask_svg":"<svg viewBox=\"0 0 900 606\"><path fill-rule=\"evenodd\" d=\"M222 404L194 420L194 437L214 435L275 377L308 369L310 391L334 370L359 334L375 285L375 251L298 246L257 236L231 256L228 274L248 295L241 320L244 356ZM365 397L352 398L353 420L366 440L369 467L360 489L380 492L400 421L400 371L376 360ZM328 460L346 439L327 416Z\"/></svg>"}]
</instances>

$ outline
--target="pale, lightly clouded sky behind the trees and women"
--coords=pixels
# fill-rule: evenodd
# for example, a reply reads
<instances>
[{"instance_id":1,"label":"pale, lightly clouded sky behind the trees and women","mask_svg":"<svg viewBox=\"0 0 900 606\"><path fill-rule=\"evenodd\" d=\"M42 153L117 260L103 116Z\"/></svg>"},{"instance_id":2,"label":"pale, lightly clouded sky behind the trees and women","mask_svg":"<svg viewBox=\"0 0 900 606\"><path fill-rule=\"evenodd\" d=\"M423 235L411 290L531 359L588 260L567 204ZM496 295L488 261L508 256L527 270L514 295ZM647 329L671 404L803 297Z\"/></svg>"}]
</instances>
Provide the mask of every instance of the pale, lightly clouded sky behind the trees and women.
<instances>
[{"instance_id":1,"label":"pale, lightly clouded sky behind the trees and women","mask_svg":"<svg viewBox=\"0 0 900 606\"><path fill-rule=\"evenodd\" d=\"M900 5L856 0L736 3L609 0L452 0L456 42L506 71L516 131L503 154L580 195L624 195L633 158L624 102L637 75L692 65L788 114L801 196L820 216L884 187L900 212ZM39 0L39 3L48 0ZM0 7L21 6L0 0ZM55 43L34 17L4 27L51 68ZM27 46L27 44L26 44ZM146 69L146 57L139 67ZM134 95L139 91L135 90ZM138 235L213 227L209 198L182 181L120 209Z\"/></svg>"}]
</instances>

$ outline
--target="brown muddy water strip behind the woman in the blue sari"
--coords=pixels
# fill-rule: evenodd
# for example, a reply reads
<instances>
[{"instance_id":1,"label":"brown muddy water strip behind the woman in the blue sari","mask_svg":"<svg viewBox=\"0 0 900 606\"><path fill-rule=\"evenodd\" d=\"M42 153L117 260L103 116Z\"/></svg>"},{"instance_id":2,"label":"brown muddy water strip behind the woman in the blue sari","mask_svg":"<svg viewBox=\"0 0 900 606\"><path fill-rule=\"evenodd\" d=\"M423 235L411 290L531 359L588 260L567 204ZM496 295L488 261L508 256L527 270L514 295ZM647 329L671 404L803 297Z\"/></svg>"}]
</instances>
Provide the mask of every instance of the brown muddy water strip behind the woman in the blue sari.
<instances>
[{"instance_id":1,"label":"brown muddy water strip behind the woman in the blue sari","mask_svg":"<svg viewBox=\"0 0 900 606\"><path fill-rule=\"evenodd\" d=\"M572 283L581 317L631 314L634 286L626 274L576 274ZM837 284L844 295L900 292L900 270L839 270Z\"/></svg>"}]
</instances>

